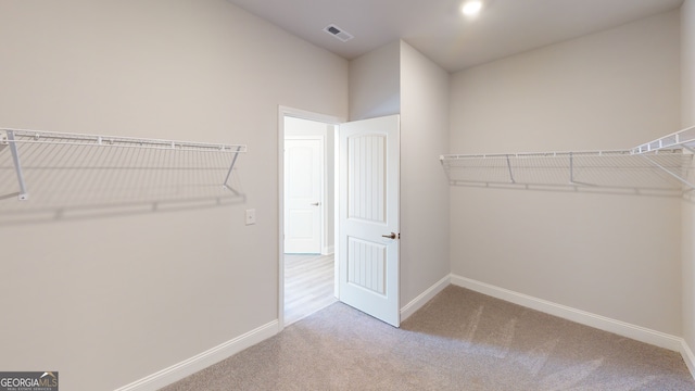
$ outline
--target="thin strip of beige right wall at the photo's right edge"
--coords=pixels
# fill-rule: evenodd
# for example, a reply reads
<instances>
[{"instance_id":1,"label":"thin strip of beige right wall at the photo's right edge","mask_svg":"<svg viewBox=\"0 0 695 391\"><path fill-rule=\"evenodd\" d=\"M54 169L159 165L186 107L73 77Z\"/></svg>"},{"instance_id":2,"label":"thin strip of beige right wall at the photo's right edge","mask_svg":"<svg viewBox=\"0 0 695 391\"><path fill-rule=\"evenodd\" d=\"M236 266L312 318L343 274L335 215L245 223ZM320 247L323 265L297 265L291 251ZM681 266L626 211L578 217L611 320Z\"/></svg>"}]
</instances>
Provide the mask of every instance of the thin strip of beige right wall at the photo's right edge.
<instances>
[{"instance_id":1,"label":"thin strip of beige right wall at the photo's right edge","mask_svg":"<svg viewBox=\"0 0 695 391\"><path fill-rule=\"evenodd\" d=\"M695 126L695 1L681 7L681 126ZM695 171L695 169L694 169ZM691 180L695 178L691 177ZM683 338L695 349L695 198L683 201Z\"/></svg>"}]
</instances>

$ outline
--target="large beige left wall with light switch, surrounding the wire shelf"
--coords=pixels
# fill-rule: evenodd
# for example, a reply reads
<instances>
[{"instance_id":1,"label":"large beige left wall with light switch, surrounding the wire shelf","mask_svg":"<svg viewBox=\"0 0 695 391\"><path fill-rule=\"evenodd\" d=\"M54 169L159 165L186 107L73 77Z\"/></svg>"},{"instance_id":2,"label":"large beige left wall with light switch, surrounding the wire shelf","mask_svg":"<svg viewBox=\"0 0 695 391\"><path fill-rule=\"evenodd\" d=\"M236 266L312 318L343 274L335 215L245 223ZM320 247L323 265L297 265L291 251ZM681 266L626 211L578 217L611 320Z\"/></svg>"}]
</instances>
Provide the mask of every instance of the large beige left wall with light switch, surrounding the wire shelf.
<instances>
[{"instance_id":1,"label":"large beige left wall with light switch, surrounding the wire shelf","mask_svg":"<svg viewBox=\"0 0 695 391\"><path fill-rule=\"evenodd\" d=\"M241 204L0 226L2 370L114 389L277 319L278 104L346 117L346 61L224 0L0 0L0 126L249 147Z\"/></svg>"}]
</instances>

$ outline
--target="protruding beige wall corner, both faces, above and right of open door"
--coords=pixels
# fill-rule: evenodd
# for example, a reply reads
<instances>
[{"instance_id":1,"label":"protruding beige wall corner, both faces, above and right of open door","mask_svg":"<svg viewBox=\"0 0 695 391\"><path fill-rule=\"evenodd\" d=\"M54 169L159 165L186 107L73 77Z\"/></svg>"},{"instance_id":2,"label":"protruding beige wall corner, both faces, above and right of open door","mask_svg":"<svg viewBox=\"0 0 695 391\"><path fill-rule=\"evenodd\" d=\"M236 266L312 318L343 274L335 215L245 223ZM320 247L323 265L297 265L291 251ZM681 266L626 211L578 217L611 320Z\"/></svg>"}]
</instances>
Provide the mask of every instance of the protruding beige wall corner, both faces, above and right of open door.
<instances>
[{"instance_id":1,"label":"protruding beige wall corner, both faces, above and right of open door","mask_svg":"<svg viewBox=\"0 0 695 391\"><path fill-rule=\"evenodd\" d=\"M401 114L401 307L448 275L448 74L403 41L350 62L352 121Z\"/></svg>"}]
</instances>

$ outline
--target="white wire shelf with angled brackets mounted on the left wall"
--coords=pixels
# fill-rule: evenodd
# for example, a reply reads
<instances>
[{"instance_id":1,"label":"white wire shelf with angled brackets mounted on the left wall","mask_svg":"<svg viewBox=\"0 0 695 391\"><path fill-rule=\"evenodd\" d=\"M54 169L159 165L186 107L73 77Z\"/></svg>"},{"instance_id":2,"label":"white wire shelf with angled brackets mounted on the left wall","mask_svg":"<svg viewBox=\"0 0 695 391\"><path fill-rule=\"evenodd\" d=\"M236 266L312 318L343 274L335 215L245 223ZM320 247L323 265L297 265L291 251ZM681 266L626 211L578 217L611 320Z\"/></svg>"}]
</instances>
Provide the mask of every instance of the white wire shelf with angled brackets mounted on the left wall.
<instances>
[{"instance_id":1,"label":"white wire shelf with angled brackets mounted on the left wall","mask_svg":"<svg viewBox=\"0 0 695 391\"><path fill-rule=\"evenodd\" d=\"M47 152L29 151L29 153L22 153L22 148L28 148L30 146L50 148ZM24 168L30 166L36 168L38 163L33 160L46 157L51 155L53 160L62 162L70 161L71 163L83 162L86 164L97 164L99 162L99 155L90 153L91 156L97 156L88 161L85 159L88 153L75 152L75 149L101 149L101 150L149 150L152 152L181 152L186 154L224 154L230 161L229 167L226 168L226 176L219 178L219 185L227 190L235 192L229 185L229 179L237 163L237 159L240 153L247 152L247 146L243 144L222 144L222 143L204 143L204 142L190 142L190 141L176 141L176 140L160 140L160 139L146 139L146 138L128 138L128 137L115 137L115 136L101 136L101 135L86 135L86 134L70 134L70 133L54 133L43 130L26 130L26 129L9 129L0 128L0 153L3 149L8 148L11 153L12 166L16 174L16 180L18 182L18 200L27 200L29 197L27 182L25 180ZM61 156L63 154L74 154L74 156ZM108 154L106 154L108 155ZM24 163L24 157L28 157L29 164ZM106 159L106 157L104 157ZM103 160L103 159L102 159ZM113 165L113 157L109 157L108 164ZM46 163L42 163L46 164ZM99 163L102 164L102 163ZM105 163L103 163L105 164Z\"/></svg>"}]
</instances>

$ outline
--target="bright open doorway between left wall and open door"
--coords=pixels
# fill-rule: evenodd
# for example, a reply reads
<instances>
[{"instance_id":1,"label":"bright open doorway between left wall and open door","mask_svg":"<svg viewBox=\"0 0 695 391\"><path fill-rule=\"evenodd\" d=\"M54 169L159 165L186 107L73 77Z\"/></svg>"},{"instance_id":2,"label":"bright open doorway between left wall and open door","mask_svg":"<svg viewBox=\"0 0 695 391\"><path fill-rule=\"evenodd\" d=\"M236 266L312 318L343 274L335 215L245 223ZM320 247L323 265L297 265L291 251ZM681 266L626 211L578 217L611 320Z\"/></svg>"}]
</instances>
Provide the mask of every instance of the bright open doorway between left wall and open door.
<instances>
[{"instance_id":1,"label":"bright open doorway between left wall and open door","mask_svg":"<svg viewBox=\"0 0 695 391\"><path fill-rule=\"evenodd\" d=\"M280 108L280 325L336 302L339 118Z\"/></svg>"}]
</instances>

